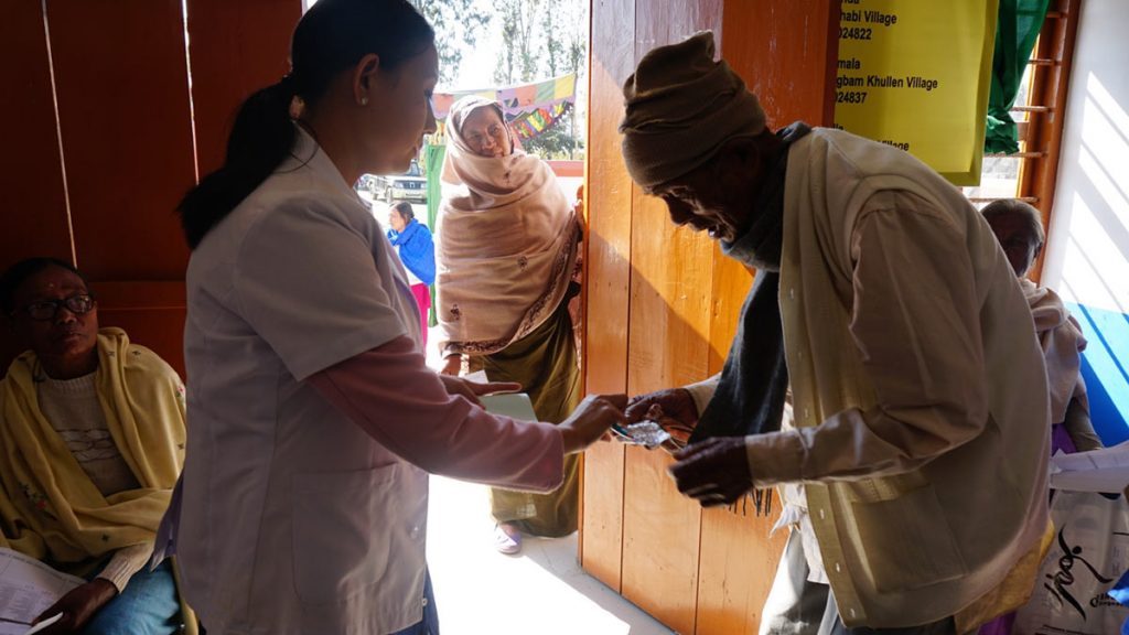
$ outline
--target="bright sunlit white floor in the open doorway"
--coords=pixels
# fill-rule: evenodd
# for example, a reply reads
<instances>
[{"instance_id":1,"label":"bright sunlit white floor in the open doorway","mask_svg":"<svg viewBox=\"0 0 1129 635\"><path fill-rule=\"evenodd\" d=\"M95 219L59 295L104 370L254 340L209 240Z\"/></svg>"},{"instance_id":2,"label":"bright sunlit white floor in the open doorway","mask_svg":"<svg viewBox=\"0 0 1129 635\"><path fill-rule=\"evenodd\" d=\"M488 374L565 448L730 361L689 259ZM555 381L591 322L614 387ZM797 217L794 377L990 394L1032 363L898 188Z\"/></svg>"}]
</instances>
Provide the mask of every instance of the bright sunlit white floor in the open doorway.
<instances>
[{"instance_id":1,"label":"bright sunlit white floor in the open doorway","mask_svg":"<svg viewBox=\"0 0 1129 635\"><path fill-rule=\"evenodd\" d=\"M668 635L577 563L577 536L492 546L487 489L431 477L428 562L443 635Z\"/></svg>"}]
</instances>

